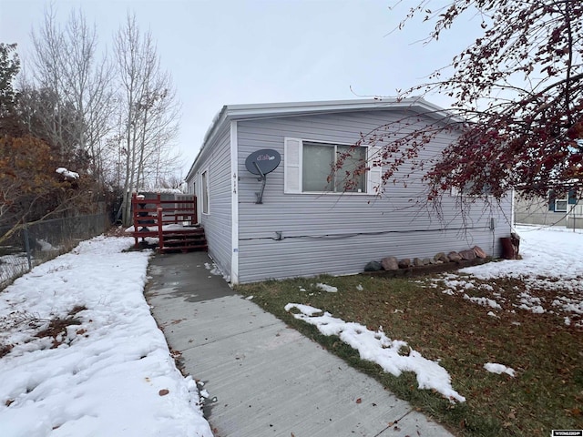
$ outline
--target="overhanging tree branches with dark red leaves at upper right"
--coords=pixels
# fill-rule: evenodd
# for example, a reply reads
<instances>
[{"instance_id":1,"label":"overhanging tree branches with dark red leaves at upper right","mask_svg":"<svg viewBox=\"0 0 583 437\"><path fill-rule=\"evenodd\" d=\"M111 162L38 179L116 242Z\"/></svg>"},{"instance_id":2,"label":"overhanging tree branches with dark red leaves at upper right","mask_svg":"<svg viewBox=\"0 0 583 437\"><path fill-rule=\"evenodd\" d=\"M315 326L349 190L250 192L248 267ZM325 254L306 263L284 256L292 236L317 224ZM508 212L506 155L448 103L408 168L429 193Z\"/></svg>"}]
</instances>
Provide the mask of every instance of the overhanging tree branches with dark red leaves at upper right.
<instances>
[{"instance_id":1,"label":"overhanging tree branches with dark red leaves at upper right","mask_svg":"<svg viewBox=\"0 0 583 437\"><path fill-rule=\"evenodd\" d=\"M553 188L575 188L580 195L583 3L454 0L432 10L433 3L425 0L411 8L400 27L424 15L425 21L435 23L428 36L435 44L463 15L477 15L484 33L450 66L398 96L438 92L452 97L449 117L415 127L409 116L363 135L359 144L383 146L379 158L384 183L395 175L405 179L421 172L430 200L451 188L478 197L487 191L495 198L504 197L510 188L526 198L547 196ZM415 162L435 137L452 131L457 139L439 156ZM341 167L342 157L336 168ZM366 169L363 162L354 173Z\"/></svg>"}]
</instances>

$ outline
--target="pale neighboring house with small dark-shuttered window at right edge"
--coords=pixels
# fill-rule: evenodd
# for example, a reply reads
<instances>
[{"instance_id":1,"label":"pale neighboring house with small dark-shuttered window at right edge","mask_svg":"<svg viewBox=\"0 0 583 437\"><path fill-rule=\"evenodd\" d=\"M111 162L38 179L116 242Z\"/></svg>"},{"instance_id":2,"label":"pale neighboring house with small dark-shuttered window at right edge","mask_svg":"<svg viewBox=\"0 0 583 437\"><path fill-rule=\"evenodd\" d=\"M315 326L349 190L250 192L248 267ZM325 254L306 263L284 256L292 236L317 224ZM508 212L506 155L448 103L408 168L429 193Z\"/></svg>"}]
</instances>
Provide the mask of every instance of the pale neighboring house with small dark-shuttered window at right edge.
<instances>
[{"instance_id":1,"label":"pale neighboring house with small dark-shuttered window at right edge","mask_svg":"<svg viewBox=\"0 0 583 437\"><path fill-rule=\"evenodd\" d=\"M514 221L517 224L583 228L583 205L573 189L549 191L547 198L515 195Z\"/></svg>"}]
</instances>

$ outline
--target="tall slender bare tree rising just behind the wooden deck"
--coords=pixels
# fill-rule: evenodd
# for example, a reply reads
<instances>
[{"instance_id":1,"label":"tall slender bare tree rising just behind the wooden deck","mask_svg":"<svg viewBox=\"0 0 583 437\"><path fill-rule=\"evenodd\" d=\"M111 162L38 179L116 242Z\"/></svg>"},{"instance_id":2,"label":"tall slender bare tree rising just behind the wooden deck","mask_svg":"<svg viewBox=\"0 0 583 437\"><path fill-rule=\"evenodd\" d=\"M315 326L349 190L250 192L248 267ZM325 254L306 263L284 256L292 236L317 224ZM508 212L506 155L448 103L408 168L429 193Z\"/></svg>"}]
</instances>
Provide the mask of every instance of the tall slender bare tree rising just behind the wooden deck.
<instances>
[{"instance_id":1,"label":"tall slender bare tree rising just behind the wooden deck","mask_svg":"<svg viewBox=\"0 0 583 437\"><path fill-rule=\"evenodd\" d=\"M121 88L123 141L126 161L123 217L128 224L133 190L143 188L148 174L161 162L160 150L168 150L178 133L179 105L172 81L159 63L150 32L141 33L135 15L128 15L115 37Z\"/></svg>"}]
</instances>

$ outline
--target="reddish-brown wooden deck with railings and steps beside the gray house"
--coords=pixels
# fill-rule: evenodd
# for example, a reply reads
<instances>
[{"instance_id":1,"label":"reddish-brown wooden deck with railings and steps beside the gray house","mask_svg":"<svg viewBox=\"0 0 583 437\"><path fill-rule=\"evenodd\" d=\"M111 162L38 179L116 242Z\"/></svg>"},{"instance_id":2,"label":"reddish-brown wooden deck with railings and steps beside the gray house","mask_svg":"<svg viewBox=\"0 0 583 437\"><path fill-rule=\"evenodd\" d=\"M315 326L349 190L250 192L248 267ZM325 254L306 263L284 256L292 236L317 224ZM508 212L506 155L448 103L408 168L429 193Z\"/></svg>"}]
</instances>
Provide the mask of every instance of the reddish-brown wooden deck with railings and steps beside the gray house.
<instances>
[{"instance_id":1,"label":"reddish-brown wooden deck with railings and steps beside the gray house","mask_svg":"<svg viewBox=\"0 0 583 437\"><path fill-rule=\"evenodd\" d=\"M206 250L204 229L197 223L197 198L162 200L132 196L134 230L132 236L138 248L147 237L159 239L161 253L180 250Z\"/></svg>"}]
</instances>

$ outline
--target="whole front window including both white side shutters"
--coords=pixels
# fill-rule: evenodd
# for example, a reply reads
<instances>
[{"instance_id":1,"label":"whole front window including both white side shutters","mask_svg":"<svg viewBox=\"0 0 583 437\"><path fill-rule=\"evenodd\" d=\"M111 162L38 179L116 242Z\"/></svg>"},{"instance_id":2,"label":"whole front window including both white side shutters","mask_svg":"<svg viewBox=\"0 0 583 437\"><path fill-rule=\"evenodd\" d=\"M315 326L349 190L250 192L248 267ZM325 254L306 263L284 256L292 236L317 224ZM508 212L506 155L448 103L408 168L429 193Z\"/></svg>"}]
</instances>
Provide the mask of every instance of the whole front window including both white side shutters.
<instances>
[{"instance_id":1,"label":"whole front window including both white side shutters","mask_svg":"<svg viewBox=\"0 0 583 437\"><path fill-rule=\"evenodd\" d=\"M286 137L283 147L284 192L375 195L383 175L382 164L377 158L379 151L380 147L352 147ZM351 156L344 159L343 168L332 172L338 158L347 152ZM367 170L354 176L354 169L362 166L363 161ZM347 185L350 188L346 188Z\"/></svg>"}]
</instances>

